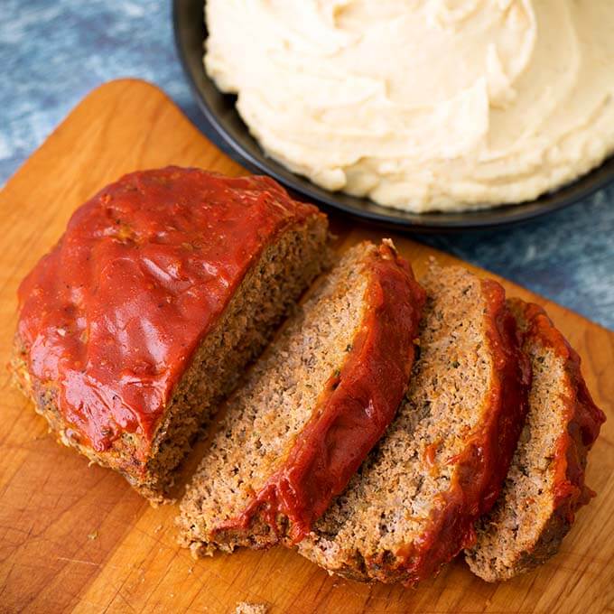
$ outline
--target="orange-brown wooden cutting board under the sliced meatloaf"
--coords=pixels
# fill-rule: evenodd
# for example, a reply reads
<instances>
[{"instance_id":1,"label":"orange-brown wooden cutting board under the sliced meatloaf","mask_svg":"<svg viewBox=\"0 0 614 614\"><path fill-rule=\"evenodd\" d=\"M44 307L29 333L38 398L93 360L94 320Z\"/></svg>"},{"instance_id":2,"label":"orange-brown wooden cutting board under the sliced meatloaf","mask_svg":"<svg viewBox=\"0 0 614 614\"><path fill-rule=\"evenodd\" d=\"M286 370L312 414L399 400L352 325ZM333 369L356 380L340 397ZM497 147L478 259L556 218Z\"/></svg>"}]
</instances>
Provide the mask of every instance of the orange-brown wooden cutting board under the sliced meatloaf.
<instances>
[{"instance_id":1,"label":"orange-brown wooden cutting board under the sliced meatloaf","mask_svg":"<svg viewBox=\"0 0 614 614\"><path fill-rule=\"evenodd\" d=\"M245 172L162 91L121 80L92 92L23 164L0 194L1 362L9 357L17 284L60 237L72 211L125 172L169 163ZM382 237L342 219L333 225L340 247ZM433 254L454 262L406 237L394 239L418 274ZM3 370L0 611L217 613L234 611L237 601L293 614L614 611L614 333L503 284L548 309L579 350L591 391L609 416L588 470L599 497L539 571L488 584L457 561L407 590L329 577L283 548L193 561L175 544L176 506L149 507L124 479L57 445Z\"/></svg>"}]
</instances>

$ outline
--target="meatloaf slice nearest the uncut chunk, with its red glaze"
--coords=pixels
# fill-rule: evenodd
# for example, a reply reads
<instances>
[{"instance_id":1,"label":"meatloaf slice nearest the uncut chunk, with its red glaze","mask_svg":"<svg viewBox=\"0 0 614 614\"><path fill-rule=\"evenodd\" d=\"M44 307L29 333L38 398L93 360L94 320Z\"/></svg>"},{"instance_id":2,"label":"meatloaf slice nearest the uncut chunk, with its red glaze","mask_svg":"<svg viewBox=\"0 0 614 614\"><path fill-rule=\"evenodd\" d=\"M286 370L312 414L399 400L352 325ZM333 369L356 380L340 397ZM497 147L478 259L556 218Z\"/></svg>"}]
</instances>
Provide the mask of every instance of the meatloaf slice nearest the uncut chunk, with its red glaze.
<instances>
[{"instance_id":1,"label":"meatloaf slice nearest the uncut chunk, with its red glaze","mask_svg":"<svg viewBox=\"0 0 614 614\"><path fill-rule=\"evenodd\" d=\"M181 501L202 556L299 541L392 420L423 290L390 242L352 247L229 399Z\"/></svg>"}]
</instances>

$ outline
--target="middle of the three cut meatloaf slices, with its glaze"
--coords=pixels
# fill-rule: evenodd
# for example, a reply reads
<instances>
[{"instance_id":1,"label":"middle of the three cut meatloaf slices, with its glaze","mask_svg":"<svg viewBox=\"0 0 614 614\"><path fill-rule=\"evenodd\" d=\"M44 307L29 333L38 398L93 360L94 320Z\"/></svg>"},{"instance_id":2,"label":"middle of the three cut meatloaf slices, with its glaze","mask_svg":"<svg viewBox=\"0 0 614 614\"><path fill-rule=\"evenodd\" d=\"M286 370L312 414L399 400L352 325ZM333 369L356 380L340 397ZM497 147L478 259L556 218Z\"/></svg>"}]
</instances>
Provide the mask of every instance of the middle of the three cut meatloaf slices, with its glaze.
<instances>
[{"instance_id":1,"label":"middle of the three cut meatloaf slices, with its glaze","mask_svg":"<svg viewBox=\"0 0 614 614\"><path fill-rule=\"evenodd\" d=\"M526 413L528 365L503 288L432 265L420 355L395 421L299 552L360 581L414 584L475 538Z\"/></svg>"}]
</instances>

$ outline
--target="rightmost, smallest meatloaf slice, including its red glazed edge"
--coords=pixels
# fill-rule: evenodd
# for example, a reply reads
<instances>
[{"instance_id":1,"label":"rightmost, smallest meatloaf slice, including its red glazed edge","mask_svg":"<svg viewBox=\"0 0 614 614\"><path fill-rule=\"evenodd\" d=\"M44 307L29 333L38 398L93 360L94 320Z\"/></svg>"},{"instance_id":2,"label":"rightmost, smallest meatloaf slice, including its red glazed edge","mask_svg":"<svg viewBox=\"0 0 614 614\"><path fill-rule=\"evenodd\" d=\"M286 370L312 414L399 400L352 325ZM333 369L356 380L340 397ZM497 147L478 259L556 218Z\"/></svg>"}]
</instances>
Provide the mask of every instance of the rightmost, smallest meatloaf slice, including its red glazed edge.
<instances>
[{"instance_id":1,"label":"rightmost, smallest meatloaf slice, including its red glazed edge","mask_svg":"<svg viewBox=\"0 0 614 614\"><path fill-rule=\"evenodd\" d=\"M509 305L533 382L505 487L479 520L478 542L466 553L471 571L486 581L512 578L558 551L575 512L593 495L584 469L605 420L581 376L579 356L544 310L519 299Z\"/></svg>"}]
</instances>

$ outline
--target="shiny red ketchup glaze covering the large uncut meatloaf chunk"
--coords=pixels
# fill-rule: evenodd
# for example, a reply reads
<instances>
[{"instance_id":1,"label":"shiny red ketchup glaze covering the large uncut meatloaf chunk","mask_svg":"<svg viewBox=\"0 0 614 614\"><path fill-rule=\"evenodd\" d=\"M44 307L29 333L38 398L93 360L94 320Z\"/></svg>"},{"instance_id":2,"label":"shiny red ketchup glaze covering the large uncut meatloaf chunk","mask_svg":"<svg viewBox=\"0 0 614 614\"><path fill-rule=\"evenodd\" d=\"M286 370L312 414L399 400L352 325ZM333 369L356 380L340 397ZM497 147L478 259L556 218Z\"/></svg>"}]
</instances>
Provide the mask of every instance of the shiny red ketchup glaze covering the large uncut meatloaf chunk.
<instances>
[{"instance_id":1,"label":"shiny red ketchup glaze covering the large uncut meatloaf chunk","mask_svg":"<svg viewBox=\"0 0 614 614\"><path fill-rule=\"evenodd\" d=\"M313 215L265 177L134 172L79 207L19 288L18 335L77 441L146 454L173 386L249 266Z\"/></svg>"}]
</instances>

